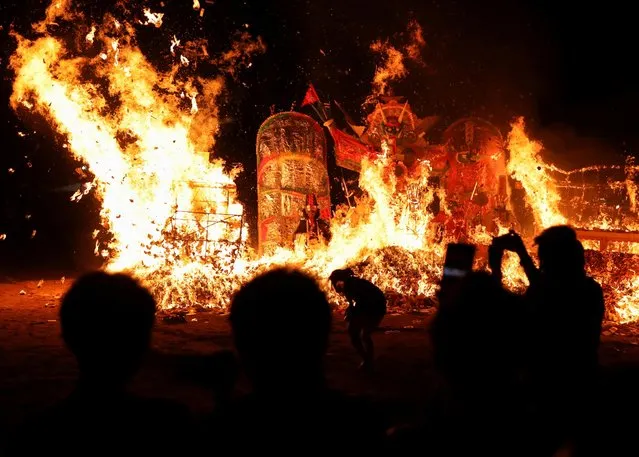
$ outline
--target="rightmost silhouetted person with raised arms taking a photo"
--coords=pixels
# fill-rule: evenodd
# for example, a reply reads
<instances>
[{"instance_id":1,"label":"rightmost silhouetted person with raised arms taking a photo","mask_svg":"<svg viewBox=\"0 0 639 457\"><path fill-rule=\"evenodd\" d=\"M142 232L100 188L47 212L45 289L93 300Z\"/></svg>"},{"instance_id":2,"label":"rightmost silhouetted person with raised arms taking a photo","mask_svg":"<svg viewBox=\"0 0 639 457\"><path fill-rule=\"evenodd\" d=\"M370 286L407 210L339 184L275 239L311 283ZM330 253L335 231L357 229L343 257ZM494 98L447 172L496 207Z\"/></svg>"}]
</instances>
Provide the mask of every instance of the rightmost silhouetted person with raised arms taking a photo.
<instances>
[{"instance_id":1,"label":"rightmost silhouetted person with raised arms taking a photo","mask_svg":"<svg viewBox=\"0 0 639 457\"><path fill-rule=\"evenodd\" d=\"M535 238L539 269L521 238L509 237L503 248L519 255L530 281L530 380L554 448L587 434L596 407L603 292L586 274L584 248L571 227L551 227Z\"/></svg>"}]
</instances>

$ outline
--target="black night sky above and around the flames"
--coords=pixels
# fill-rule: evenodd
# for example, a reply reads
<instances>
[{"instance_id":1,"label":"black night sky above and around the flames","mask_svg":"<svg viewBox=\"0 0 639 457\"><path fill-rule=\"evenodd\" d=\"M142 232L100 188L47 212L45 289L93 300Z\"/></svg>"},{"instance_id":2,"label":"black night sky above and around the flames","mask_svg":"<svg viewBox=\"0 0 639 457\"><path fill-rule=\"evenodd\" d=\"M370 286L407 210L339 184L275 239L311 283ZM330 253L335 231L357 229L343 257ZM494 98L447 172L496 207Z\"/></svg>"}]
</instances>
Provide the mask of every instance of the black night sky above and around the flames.
<instances>
[{"instance_id":1,"label":"black night sky above and around the flames","mask_svg":"<svg viewBox=\"0 0 639 457\"><path fill-rule=\"evenodd\" d=\"M110 2L84 3L97 15ZM282 111L299 103L312 81L320 95L362 117L376 64L368 47L378 38L401 43L411 18L424 30L427 66L409 64L409 76L394 89L409 97L418 115L440 114L443 124L479 115L504 130L514 116L524 115L562 166L620 161L639 147L639 83L633 71L639 40L631 7L621 1L589 6L572 0L216 0L212 6L201 2L207 9L202 19L191 0L165 0L164 8L156 1L139 3L166 13L162 40L179 31L205 36L214 49L224 49L244 24L264 39L267 52L238 81L229 82L222 107L226 123L216 148L245 166L238 184L249 216L255 214L255 135L270 107ZM8 31L11 24L25 30L42 17L46 4L0 4L0 233L9 235L0 241L0 262L13 269L34 259L42 268L86 267L97 222L95 202L72 204L69 195L51 192L74 182L74 163L66 151L55 146L46 129L20 138L17 131L25 128L8 108L6 64L14 46ZM152 53L160 45L151 39L142 46ZM7 174L9 167L16 170L13 175ZM34 228L38 234L30 239Z\"/></svg>"}]
</instances>

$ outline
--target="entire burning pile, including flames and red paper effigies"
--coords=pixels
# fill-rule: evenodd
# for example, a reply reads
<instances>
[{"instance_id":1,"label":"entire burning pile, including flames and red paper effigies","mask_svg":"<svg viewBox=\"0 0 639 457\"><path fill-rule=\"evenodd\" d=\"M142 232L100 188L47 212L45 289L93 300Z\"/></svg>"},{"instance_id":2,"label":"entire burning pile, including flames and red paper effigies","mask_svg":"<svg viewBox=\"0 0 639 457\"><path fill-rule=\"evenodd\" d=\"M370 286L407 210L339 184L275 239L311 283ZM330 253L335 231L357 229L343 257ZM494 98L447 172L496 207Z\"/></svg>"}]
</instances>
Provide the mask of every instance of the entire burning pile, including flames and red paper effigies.
<instances>
[{"instance_id":1,"label":"entire burning pile, including flames and red paper effigies","mask_svg":"<svg viewBox=\"0 0 639 457\"><path fill-rule=\"evenodd\" d=\"M565 214L557 176L569 178L576 172L546 164L542 145L529 139L523 119L513 123L505 138L489 123L460 121L441 144L432 144L425 135L436 119L417 119L407 101L387 97L384 105L375 105L368 126L349 120L352 134L332 119L322 119L335 141L338 164L359 173L362 191L333 214L325 151L317 149L323 144L321 126L316 124L319 130L310 144L310 137L299 135L279 142L287 136L278 137L265 123L260 134L268 141L258 139L258 156L278 166L258 170L268 181L259 198L270 205L260 213L260 230L262 223L266 227L260 239L268 239L269 246L263 255L253 255L245 249L246 224L234 184L238 170L210 161L209 153L219 127L217 102L225 77L249 65L250 55L263 52L264 45L244 33L227 52L212 57L205 43L173 35L166 40L171 68L160 71L141 52L136 30L161 31L163 15L119 7L119 13L92 23L70 0L54 0L28 37L14 35L18 47L11 59L16 75L11 105L23 117L46 119L64 137L64 148L86 163L93 177L72 199L93 192L101 203L96 254L105 258L108 270L141 278L162 307L225 309L242 282L283 264L300 267L323 284L332 270L350 266L388 291L392 302L423 306L435 295L447 241L463 235L486 245L492 235L521 228L510 216L513 185L524 191L535 230L572 221L587 230L639 229L633 164L624 167L626 178L618 184L631 201L626 219ZM194 9L203 11L199 2ZM379 100L391 81L405 76L404 58L420 61L425 45L421 29L411 23L409 32L404 48L373 44L371 49L384 60L369 101ZM198 76L194 67L202 59L218 66L219 75ZM312 93L308 104L317 101ZM289 114L288 120L314 123L308 116ZM276 120L269 125L281 127L287 117ZM305 176L288 186L282 167L293 175L305 173L315 169L305 165L313 157L322 176ZM305 198L305 192L321 194L321 201ZM318 208L313 209L314 201ZM306 217L318 210L319 217L330 219L330 237L295 245L295 218L305 204ZM280 225L269 229L273 221ZM589 254L590 269L606 287L609 317L629 322L639 318L639 264L634 265L639 261L627 254L633 250L630 244L617 247L626 254ZM624 265L623 271L617 271L618 265ZM504 268L509 287L526 285L516 258L507 256Z\"/></svg>"}]
</instances>

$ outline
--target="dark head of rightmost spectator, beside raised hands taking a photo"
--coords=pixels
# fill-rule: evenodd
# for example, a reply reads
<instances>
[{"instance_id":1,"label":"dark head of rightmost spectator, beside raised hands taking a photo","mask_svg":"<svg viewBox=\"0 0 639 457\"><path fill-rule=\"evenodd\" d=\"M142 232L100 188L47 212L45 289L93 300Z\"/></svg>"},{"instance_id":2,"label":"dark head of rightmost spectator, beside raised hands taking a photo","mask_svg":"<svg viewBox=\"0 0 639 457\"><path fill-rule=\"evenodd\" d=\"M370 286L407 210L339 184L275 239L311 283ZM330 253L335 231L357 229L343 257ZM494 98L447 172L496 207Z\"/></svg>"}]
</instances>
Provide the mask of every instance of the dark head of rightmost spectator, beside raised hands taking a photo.
<instances>
[{"instance_id":1,"label":"dark head of rightmost spectator, beside raised hands taking a photo","mask_svg":"<svg viewBox=\"0 0 639 457\"><path fill-rule=\"evenodd\" d=\"M543 273L556 277L584 273L584 248L573 228L567 225L550 227L535 238L535 243Z\"/></svg>"}]
</instances>

